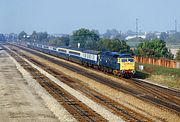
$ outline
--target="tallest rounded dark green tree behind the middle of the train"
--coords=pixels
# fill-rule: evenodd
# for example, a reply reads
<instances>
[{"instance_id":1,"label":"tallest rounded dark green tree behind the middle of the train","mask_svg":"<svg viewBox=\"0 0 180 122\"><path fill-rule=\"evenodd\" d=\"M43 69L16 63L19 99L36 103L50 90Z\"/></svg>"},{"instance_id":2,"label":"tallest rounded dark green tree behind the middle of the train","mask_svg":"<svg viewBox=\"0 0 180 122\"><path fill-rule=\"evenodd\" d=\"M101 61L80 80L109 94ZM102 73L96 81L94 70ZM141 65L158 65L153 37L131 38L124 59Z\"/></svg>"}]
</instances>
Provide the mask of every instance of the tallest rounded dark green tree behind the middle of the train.
<instances>
[{"instance_id":1,"label":"tallest rounded dark green tree behind the middle of the train","mask_svg":"<svg viewBox=\"0 0 180 122\"><path fill-rule=\"evenodd\" d=\"M92 47L94 46L93 43L97 43L99 39L99 35L96 32L81 28L73 32L70 44L73 47L77 47L78 43L80 43L80 47L90 49L94 48Z\"/></svg>"}]
</instances>

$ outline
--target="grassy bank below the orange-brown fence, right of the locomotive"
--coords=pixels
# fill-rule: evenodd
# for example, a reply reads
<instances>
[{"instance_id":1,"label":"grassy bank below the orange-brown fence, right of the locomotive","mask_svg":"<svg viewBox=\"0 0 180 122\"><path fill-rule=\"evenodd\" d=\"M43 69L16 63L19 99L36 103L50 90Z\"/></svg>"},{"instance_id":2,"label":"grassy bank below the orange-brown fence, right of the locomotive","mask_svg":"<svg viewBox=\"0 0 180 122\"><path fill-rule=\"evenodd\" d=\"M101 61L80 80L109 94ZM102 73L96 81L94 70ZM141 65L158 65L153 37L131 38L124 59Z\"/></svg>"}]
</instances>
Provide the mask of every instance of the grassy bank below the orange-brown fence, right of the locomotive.
<instances>
[{"instance_id":1,"label":"grassy bank below the orange-brown fence, right of the locomotive","mask_svg":"<svg viewBox=\"0 0 180 122\"><path fill-rule=\"evenodd\" d=\"M144 70L140 71L139 65L143 65ZM136 71L135 77L137 78L148 79L171 88L180 89L180 69L136 63Z\"/></svg>"}]
</instances>

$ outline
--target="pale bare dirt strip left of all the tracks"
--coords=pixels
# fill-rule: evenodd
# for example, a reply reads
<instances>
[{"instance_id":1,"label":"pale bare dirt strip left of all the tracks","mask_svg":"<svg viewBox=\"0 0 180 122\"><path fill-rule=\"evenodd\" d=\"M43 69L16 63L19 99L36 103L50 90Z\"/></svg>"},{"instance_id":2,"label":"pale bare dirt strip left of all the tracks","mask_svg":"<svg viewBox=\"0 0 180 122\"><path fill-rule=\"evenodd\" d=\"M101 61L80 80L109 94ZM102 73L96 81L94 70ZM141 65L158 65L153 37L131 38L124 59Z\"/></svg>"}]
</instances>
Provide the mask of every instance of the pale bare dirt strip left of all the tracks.
<instances>
[{"instance_id":1,"label":"pale bare dirt strip left of all the tracks","mask_svg":"<svg viewBox=\"0 0 180 122\"><path fill-rule=\"evenodd\" d=\"M16 65L3 50L0 51L0 121L59 121L27 85Z\"/></svg>"}]
</instances>

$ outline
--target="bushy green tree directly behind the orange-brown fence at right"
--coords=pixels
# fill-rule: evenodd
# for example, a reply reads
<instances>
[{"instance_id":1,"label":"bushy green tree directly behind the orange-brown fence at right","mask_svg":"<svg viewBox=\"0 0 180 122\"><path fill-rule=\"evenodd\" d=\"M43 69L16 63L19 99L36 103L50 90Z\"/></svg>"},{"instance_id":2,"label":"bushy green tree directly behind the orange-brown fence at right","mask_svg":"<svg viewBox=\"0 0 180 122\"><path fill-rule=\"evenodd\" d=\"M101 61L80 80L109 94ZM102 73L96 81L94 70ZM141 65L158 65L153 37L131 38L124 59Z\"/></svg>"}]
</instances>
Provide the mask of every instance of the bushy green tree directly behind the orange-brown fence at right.
<instances>
[{"instance_id":1,"label":"bushy green tree directly behind the orange-brown fence at right","mask_svg":"<svg viewBox=\"0 0 180 122\"><path fill-rule=\"evenodd\" d=\"M155 39L152 41L145 41L140 43L135 53L144 57L157 57L173 59L173 54L166 47L166 42Z\"/></svg>"}]
</instances>

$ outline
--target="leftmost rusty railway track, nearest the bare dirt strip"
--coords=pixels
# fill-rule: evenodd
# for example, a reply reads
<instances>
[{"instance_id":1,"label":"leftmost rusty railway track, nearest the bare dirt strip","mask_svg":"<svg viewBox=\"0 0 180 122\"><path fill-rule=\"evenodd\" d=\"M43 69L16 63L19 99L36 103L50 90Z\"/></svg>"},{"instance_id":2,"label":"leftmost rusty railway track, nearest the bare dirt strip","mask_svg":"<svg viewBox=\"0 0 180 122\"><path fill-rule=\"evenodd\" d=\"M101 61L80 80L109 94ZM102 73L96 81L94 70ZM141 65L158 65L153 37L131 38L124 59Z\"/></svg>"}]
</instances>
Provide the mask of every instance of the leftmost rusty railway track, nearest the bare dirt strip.
<instances>
[{"instance_id":1,"label":"leftmost rusty railway track, nearest the bare dirt strip","mask_svg":"<svg viewBox=\"0 0 180 122\"><path fill-rule=\"evenodd\" d=\"M51 94L66 110L71 113L78 121L83 122L106 122L101 115L93 111L77 98L69 94L62 87L51 81L49 78L41 74L37 69L33 68L26 61L20 58L17 54L10 50L6 51L18 62L21 66L28 71L38 83L44 87L49 94Z\"/></svg>"}]
</instances>

